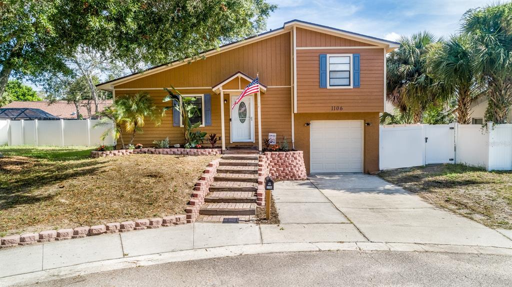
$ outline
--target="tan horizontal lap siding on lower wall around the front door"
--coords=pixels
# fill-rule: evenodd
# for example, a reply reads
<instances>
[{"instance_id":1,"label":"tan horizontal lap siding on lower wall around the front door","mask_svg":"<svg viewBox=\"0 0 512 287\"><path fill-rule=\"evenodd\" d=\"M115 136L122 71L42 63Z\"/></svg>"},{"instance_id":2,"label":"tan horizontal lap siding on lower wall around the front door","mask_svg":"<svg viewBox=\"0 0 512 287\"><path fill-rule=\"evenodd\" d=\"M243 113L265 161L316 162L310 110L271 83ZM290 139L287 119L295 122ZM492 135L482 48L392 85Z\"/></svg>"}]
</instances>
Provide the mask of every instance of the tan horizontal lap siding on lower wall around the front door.
<instances>
[{"instance_id":1,"label":"tan horizontal lap siding on lower wall around the front door","mask_svg":"<svg viewBox=\"0 0 512 287\"><path fill-rule=\"evenodd\" d=\"M116 97L120 98L123 95L129 93L136 93L138 91L116 91ZM163 103L162 100L167 94L165 91L159 90L149 90L153 102L158 106L158 108L163 108L165 106L169 106L170 103ZM198 89L198 90L182 90L183 95L185 94L211 94L211 126L208 127L200 127L198 130L210 133L216 133L217 136L221 136L221 112L220 112L220 94L215 94L214 92L208 89ZM266 93L262 93L261 98L261 113L262 113L262 138L267 138L268 133L276 133L278 134L278 140L281 141L283 136L288 138L288 142L291 147L291 99L290 99L290 88L268 88ZM226 146L233 145L249 145L249 146L257 146L258 145L258 101L257 95L254 95L254 135L255 142L233 142L230 143L230 125L229 125L229 112L230 112L230 101L229 94L224 94L224 99L227 100L227 103L224 104L224 121L225 121L225 136L226 136ZM172 110L167 111L167 115L163 118L160 126L155 126L151 121L147 121L145 126L143 127L143 133L136 134L134 144L142 143L144 147L152 147L153 141L156 139L164 139L165 137L169 137L169 142L171 145L176 143L183 144L183 128L174 127L173 126L173 112ZM127 143L130 141L131 134L126 134L123 132L124 142ZM118 140L120 144L121 141ZM217 142L218 146L221 146L222 142L219 140ZM208 146L207 142L204 142L205 146Z\"/></svg>"}]
</instances>

